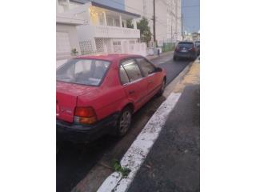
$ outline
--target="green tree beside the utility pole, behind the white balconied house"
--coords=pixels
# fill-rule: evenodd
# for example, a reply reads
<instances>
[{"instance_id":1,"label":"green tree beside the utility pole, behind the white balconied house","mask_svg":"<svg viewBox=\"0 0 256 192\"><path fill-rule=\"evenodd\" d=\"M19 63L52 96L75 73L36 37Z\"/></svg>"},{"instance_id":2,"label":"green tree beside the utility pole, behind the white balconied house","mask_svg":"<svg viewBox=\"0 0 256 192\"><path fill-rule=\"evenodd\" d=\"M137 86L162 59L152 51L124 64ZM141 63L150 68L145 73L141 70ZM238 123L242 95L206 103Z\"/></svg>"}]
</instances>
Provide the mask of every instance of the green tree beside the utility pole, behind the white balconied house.
<instances>
[{"instance_id":1,"label":"green tree beside the utility pole, behind the white balconied house","mask_svg":"<svg viewBox=\"0 0 256 192\"><path fill-rule=\"evenodd\" d=\"M148 43L152 38L152 33L150 31L148 20L146 18L142 18L142 20L137 22L137 28L140 30L141 33L141 41L146 42L146 45L148 46Z\"/></svg>"}]
</instances>

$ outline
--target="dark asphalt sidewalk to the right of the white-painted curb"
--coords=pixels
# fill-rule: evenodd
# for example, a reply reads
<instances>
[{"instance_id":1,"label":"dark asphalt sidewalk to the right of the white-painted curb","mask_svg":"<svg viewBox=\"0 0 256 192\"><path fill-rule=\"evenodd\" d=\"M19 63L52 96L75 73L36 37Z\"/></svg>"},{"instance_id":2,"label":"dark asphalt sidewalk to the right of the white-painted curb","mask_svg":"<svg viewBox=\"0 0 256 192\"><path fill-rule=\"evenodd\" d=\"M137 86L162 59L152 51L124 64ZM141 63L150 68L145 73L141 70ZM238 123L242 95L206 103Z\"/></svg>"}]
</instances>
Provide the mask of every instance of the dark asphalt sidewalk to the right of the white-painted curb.
<instances>
[{"instance_id":1,"label":"dark asphalt sidewalk to the right of the white-painted curb","mask_svg":"<svg viewBox=\"0 0 256 192\"><path fill-rule=\"evenodd\" d=\"M200 191L199 86L186 86L129 192Z\"/></svg>"}]
</instances>

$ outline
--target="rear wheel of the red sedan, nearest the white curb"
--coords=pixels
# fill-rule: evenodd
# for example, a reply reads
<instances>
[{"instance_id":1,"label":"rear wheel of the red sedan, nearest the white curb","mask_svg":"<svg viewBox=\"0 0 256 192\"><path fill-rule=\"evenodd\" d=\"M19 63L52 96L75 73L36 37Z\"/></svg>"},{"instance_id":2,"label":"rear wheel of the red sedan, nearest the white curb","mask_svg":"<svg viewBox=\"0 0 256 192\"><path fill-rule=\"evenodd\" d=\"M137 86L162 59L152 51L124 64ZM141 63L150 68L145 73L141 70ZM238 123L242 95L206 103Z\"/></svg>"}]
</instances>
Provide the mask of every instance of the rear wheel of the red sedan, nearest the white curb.
<instances>
[{"instance_id":1,"label":"rear wheel of the red sedan, nearest the white curb","mask_svg":"<svg viewBox=\"0 0 256 192\"><path fill-rule=\"evenodd\" d=\"M131 123L131 117L132 117L132 110L130 107L126 107L122 110L121 114L119 115L115 135L117 137L123 137L126 135L127 131L130 129L130 123Z\"/></svg>"}]
</instances>

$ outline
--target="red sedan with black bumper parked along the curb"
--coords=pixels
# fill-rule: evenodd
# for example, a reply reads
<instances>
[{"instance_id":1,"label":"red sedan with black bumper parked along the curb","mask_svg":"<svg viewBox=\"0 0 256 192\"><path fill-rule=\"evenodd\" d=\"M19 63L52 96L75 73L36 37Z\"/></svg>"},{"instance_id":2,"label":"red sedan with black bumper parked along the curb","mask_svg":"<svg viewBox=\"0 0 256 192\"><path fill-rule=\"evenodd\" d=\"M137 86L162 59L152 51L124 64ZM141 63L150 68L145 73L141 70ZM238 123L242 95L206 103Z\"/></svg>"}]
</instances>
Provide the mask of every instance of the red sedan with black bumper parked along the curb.
<instances>
[{"instance_id":1,"label":"red sedan with black bumper parked along the curb","mask_svg":"<svg viewBox=\"0 0 256 192\"><path fill-rule=\"evenodd\" d=\"M70 59L57 70L56 125L60 140L90 142L123 136L132 114L161 95L166 71L140 55L107 54Z\"/></svg>"}]
</instances>

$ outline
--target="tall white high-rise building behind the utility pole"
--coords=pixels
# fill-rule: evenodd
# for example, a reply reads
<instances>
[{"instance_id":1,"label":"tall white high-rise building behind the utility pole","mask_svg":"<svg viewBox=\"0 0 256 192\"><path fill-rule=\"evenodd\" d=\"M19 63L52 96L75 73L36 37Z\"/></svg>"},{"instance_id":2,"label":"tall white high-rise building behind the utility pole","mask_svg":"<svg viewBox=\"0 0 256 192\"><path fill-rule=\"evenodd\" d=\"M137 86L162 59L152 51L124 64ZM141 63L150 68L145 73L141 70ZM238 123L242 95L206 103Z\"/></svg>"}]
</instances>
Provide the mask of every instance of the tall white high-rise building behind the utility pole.
<instances>
[{"instance_id":1,"label":"tall white high-rise building behind the utility pole","mask_svg":"<svg viewBox=\"0 0 256 192\"><path fill-rule=\"evenodd\" d=\"M125 5L127 11L148 19L153 34L153 0L125 0ZM159 46L162 46L162 42L182 40L181 6L181 0L155 0L155 29Z\"/></svg>"}]
</instances>

